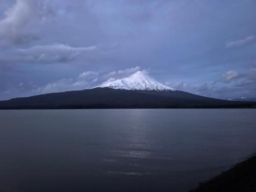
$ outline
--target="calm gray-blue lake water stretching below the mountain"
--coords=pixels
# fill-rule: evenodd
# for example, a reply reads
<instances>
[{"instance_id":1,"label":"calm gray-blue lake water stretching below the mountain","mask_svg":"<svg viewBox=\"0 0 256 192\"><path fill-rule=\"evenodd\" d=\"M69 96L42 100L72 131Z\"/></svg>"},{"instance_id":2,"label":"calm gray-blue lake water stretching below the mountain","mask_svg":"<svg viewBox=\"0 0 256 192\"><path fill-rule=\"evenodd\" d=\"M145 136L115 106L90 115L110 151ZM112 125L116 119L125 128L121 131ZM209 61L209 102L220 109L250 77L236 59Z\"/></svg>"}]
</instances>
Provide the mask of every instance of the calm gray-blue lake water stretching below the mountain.
<instances>
[{"instance_id":1,"label":"calm gray-blue lake water stretching below the mountain","mask_svg":"<svg viewBox=\"0 0 256 192\"><path fill-rule=\"evenodd\" d=\"M0 111L0 191L188 191L256 152L256 110Z\"/></svg>"}]
</instances>

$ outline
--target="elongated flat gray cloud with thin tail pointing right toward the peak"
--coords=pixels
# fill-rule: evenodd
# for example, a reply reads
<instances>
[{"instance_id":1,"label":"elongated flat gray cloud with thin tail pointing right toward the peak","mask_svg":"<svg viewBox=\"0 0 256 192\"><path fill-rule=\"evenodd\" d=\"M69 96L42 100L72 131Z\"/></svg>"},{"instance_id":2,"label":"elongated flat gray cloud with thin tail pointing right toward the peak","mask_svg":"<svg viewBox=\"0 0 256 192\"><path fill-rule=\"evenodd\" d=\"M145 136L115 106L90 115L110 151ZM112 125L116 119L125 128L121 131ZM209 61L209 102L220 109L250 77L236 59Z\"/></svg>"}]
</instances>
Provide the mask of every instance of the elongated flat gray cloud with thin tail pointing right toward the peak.
<instances>
[{"instance_id":1,"label":"elongated flat gray cloud with thin tail pointing right toward the peak","mask_svg":"<svg viewBox=\"0 0 256 192\"><path fill-rule=\"evenodd\" d=\"M68 45L56 44L45 46L33 46L28 49L18 49L20 59L28 62L52 63L68 62L75 59L81 52L94 51L97 46L70 47Z\"/></svg>"}]
</instances>

